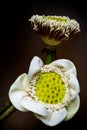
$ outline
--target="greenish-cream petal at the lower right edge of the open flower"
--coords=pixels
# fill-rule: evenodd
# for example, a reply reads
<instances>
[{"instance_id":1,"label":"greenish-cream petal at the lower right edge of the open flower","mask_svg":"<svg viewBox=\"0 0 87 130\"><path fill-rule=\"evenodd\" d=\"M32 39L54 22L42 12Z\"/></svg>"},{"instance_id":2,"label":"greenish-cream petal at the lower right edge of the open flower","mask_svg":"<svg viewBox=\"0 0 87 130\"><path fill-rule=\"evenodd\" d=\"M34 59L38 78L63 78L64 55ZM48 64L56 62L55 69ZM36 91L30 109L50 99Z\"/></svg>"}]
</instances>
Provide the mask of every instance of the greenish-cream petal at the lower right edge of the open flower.
<instances>
[{"instance_id":1,"label":"greenish-cream petal at the lower right edge of the open flower","mask_svg":"<svg viewBox=\"0 0 87 130\"><path fill-rule=\"evenodd\" d=\"M77 113L79 107L80 107L80 98L78 95L72 102L70 102L69 106L66 107L67 116L65 118L65 121L70 120Z\"/></svg>"}]
</instances>

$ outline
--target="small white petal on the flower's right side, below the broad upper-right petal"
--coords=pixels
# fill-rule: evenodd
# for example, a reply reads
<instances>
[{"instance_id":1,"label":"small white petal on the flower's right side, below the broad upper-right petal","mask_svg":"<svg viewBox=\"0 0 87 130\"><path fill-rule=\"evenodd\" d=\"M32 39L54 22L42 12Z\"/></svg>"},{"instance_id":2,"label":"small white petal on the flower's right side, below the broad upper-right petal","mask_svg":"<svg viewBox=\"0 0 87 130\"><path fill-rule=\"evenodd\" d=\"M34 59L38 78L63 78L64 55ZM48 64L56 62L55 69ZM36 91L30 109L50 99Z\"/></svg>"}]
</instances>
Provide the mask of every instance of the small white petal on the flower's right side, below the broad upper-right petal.
<instances>
[{"instance_id":1,"label":"small white petal on the flower's right side, below the broad upper-right petal","mask_svg":"<svg viewBox=\"0 0 87 130\"><path fill-rule=\"evenodd\" d=\"M76 91L77 94L80 92L79 81L72 73L70 74L69 84L71 85L72 89Z\"/></svg>"}]
</instances>

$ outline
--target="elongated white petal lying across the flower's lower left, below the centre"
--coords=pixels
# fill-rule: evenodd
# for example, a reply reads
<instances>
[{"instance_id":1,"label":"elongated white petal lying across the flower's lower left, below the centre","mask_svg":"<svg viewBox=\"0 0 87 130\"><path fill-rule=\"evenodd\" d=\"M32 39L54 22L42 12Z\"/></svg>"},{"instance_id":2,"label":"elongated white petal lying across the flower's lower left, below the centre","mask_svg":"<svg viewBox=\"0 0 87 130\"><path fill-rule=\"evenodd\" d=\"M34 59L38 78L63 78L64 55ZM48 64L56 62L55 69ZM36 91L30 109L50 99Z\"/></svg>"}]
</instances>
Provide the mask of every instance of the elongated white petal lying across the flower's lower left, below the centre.
<instances>
[{"instance_id":1,"label":"elongated white petal lying across the flower's lower left, below the centre","mask_svg":"<svg viewBox=\"0 0 87 130\"><path fill-rule=\"evenodd\" d=\"M46 108L44 107L44 105L41 103L35 102L30 97L23 98L23 100L21 101L21 104L25 109L32 111L33 113L37 113L40 116L48 115L48 112L47 112Z\"/></svg>"}]
</instances>

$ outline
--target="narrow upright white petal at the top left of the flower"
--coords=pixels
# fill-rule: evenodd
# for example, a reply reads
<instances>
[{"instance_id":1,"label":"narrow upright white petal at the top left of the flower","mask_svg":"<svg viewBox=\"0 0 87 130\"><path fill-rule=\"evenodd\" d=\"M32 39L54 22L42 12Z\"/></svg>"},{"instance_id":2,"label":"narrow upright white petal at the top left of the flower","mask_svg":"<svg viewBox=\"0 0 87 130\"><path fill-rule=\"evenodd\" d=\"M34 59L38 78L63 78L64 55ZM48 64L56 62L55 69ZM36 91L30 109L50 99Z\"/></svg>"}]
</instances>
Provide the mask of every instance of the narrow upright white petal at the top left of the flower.
<instances>
[{"instance_id":1,"label":"narrow upright white petal at the top left of the flower","mask_svg":"<svg viewBox=\"0 0 87 130\"><path fill-rule=\"evenodd\" d=\"M35 73L40 71L42 66L43 66L43 61L38 56L34 56L30 63L30 67L28 71L29 81L31 80L32 76Z\"/></svg>"}]
</instances>

